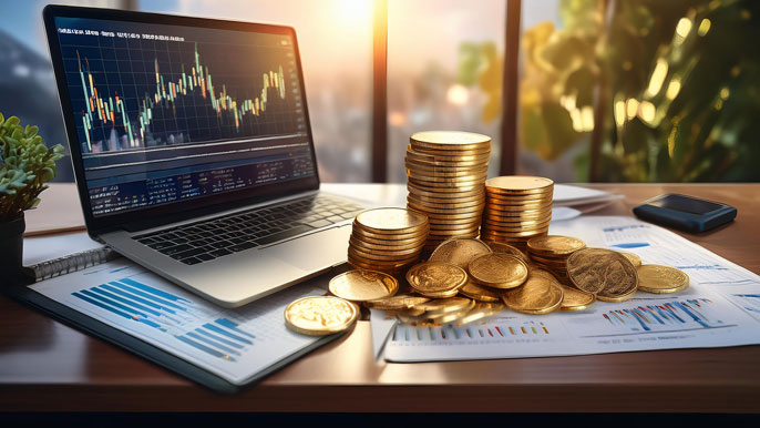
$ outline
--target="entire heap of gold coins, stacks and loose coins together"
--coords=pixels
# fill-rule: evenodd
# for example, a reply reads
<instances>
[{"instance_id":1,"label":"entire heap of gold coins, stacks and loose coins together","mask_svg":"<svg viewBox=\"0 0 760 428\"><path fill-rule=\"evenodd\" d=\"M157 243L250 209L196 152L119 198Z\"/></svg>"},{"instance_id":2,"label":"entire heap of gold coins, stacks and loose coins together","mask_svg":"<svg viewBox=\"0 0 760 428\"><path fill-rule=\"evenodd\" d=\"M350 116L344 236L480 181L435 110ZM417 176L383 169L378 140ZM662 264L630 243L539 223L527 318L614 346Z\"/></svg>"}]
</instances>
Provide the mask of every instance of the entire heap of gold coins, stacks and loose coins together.
<instances>
[{"instance_id":1,"label":"entire heap of gold coins, stacks and loose coins together","mask_svg":"<svg viewBox=\"0 0 760 428\"><path fill-rule=\"evenodd\" d=\"M689 277L675 267L548 235L554 182L486 181L490 145L490 137L466 132L413 134L405 157L408 210L356 217L348 249L356 269L330 281L331 296L288 306L290 328L311 335L346 330L359 305L410 325L465 325L504 308L532 315L583 310L597 299L625 302L637 292L688 287Z\"/></svg>"}]
</instances>

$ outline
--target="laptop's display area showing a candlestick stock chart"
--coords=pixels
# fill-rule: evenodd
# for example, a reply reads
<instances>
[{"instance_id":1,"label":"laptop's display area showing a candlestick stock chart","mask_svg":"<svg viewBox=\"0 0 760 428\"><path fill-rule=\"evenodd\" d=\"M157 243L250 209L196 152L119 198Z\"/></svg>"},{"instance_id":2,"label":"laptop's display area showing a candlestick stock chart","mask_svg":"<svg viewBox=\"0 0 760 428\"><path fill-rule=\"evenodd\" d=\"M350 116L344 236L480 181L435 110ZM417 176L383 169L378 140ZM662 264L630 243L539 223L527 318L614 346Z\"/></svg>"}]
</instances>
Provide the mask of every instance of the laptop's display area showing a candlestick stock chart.
<instances>
[{"instance_id":1,"label":"laptop's display area showing a candlestick stock chart","mask_svg":"<svg viewBox=\"0 0 760 428\"><path fill-rule=\"evenodd\" d=\"M316 174L291 37L55 27L93 216Z\"/></svg>"}]
</instances>

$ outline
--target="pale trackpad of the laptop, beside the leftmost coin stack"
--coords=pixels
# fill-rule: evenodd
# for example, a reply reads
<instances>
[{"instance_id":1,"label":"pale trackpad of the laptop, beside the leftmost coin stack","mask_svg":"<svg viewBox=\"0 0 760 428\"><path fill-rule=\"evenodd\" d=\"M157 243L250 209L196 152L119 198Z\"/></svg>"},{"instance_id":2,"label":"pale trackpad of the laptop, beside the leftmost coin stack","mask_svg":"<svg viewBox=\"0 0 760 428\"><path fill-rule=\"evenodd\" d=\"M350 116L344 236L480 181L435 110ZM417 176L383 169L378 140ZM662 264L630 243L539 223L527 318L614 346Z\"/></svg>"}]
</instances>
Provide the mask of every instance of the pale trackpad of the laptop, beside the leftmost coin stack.
<instances>
[{"instance_id":1,"label":"pale trackpad of the laptop, beside the leftmost coin stack","mask_svg":"<svg viewBox=\"0 0 760 428\"><path fill-rule=\"evenodd\" d=\"M346 262L351 225L329 228L267 248L273 256L304 271L317 271Z\"/></svg>"}]
</instances>

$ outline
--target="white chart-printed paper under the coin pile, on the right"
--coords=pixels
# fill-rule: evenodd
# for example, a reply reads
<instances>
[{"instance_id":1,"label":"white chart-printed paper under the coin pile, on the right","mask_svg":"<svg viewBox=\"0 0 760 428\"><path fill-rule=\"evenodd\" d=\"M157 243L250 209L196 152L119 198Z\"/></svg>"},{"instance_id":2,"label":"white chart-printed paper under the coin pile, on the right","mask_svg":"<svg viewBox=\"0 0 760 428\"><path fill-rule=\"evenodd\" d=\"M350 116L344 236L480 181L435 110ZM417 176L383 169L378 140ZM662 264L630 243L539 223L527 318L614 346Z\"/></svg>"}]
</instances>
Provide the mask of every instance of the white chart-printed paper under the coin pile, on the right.
<instances>
[{"instance_id":1,"label":"white chart-printed paper under the coin pile, on the right","mask_svg":"<svg viewBox=\"0 0 760 428\"><path fill-rule=\"evenodd\" d=\"M624 216L553 223L551 235L589 247L626 251L644 264L689 275L675 294L638 292L623 303L596 302L581 312L525 315L509 309L480 324L420 327L372 312L373 334L388 333L391 361L493 359L723 347L760 344L760 277L665 228ZM377 320L376 320L377 319ZM376 351L381 349L376 345Z\"/></svg>"}]
</instances>

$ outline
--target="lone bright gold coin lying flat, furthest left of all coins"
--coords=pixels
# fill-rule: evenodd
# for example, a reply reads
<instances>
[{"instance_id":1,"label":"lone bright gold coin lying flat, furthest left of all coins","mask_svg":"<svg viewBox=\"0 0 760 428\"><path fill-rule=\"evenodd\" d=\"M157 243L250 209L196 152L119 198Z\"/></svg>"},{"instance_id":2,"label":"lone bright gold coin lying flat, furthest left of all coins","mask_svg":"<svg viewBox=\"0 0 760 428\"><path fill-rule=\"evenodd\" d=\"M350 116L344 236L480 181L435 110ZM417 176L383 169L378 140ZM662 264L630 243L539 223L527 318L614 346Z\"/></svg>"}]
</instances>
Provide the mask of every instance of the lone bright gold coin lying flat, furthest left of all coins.
<instances>
[{"instance_id":1,"label":"lone bright gold coin lying flat, furthest left of all coins","mask_svg":"<svg viewBox=\"0 0 760 428\"><path fill-rule=\"evenodd\" d=\"M332 296L299 298L285 308L286 325L309 336L343 332L353 325L358 315L350 302Z\"/></svg>"}]
</instances>

